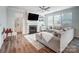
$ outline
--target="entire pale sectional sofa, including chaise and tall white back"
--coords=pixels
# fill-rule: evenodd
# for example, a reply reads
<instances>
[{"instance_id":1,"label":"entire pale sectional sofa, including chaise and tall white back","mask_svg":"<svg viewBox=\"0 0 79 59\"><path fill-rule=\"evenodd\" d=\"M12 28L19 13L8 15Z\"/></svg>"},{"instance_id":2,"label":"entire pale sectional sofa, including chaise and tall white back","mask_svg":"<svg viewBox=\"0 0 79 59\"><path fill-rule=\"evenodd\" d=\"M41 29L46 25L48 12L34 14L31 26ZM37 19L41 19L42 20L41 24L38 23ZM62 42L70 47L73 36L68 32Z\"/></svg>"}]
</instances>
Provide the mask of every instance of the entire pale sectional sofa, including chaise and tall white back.
<instances>
[{"instance_id":1,"label":"entire pale sectional sofa, including chaise and tall white back","mask_svg":"<svg viewBox=\"0 0 79 59\"><path fill-rule=\"evenodd\" d=\"M39 32L36 34L36 39L55 52L62 52L73 39L74 30L68 28L65 31L56 30L55 32L60 33L61 36L56 37L53 33Z\"/></svg>"}]
</instances>

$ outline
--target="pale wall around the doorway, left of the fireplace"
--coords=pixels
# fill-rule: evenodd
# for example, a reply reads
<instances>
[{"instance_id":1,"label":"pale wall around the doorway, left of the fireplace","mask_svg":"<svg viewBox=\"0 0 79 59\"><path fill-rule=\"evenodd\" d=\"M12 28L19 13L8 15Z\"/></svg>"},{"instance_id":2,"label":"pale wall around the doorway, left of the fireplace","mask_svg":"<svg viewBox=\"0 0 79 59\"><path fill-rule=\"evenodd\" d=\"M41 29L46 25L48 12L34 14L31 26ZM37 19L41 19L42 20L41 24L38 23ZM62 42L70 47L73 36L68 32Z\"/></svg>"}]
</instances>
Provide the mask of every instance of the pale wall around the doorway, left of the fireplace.
<instances>
[{"instance_id":1,"label":"pale wall around the doorway, left of the fireplace","mask_svg":"<svg viewBox=\"0 0 79 59\"><path fill-rule=\"evenodd\" d=\"M22 22L24 20L24 10L22 9L18 9L18 8L13 8L13 7L8 7L8 12L7 12L7 16L8 16L8 20L7 20L7 27L8 28L12 28L13 31L15 31L15 20L17 18L20 18L22 19ZM24 25L24 22L23 22L23 25ZM25 28L23 27L23 30L25 30ZM23 32L24 33L24 32Z\"/></svg>"}]
</instances>

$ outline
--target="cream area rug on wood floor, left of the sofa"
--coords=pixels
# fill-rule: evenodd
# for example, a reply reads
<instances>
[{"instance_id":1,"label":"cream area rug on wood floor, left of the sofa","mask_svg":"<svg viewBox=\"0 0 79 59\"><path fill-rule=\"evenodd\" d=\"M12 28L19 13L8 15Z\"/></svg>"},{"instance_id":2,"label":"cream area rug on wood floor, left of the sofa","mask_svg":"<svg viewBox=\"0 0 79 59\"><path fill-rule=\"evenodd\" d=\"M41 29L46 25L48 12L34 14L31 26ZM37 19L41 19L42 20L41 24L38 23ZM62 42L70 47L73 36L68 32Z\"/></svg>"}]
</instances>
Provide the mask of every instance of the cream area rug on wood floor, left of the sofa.
<instances>
[{"instance_id":1,"label":"cream area rug on wood floor, left of the sofa","mask_svg":"<svg viewBox=\"0 0 79 59\"><path fill-rule=\"evenodd\" d=\"M45 46L42 45L40 42L36 40L35 34L29 34L24 36L37 50L44 48Z\"/></svg>"}]
</instances>

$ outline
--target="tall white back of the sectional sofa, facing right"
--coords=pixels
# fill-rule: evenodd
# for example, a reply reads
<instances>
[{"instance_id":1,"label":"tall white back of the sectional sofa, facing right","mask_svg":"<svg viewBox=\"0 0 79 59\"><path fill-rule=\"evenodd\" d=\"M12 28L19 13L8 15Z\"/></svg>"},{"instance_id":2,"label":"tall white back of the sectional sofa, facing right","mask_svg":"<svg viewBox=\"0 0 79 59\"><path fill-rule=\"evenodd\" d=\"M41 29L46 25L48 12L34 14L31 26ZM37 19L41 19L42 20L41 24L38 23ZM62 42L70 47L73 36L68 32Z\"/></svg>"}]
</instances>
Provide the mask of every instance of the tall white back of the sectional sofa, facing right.
<instances>
[{"instance_id":1,"label":"tall white back of the sectional sofa, facing right","mask_svg":"<svg viewBox=\"0 0 79 59\"><path fill-rule=\"evenodd\" d=\"M60 52L62 52L74 38L74 29L68 29L61 34Z\"/></svg>"}]
</instances>

